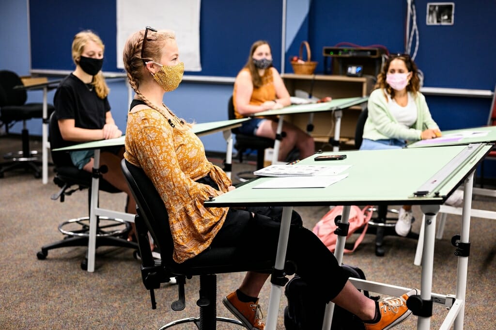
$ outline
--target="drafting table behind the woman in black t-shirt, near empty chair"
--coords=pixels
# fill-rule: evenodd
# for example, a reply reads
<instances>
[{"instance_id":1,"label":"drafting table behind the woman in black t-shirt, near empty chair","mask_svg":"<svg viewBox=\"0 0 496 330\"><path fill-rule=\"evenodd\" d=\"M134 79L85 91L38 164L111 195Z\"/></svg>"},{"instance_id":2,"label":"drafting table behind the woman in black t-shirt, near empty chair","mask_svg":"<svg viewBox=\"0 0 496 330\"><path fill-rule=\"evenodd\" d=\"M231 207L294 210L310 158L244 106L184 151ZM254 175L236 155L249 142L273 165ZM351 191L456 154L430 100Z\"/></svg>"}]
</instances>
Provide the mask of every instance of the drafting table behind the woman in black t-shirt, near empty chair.
<instances>
[{"instance_id":1,"label":"drafting table behind the woman in black t-shirt, near empty chair","mask_svg":"<svg viewBox=\"0 0 496 330\"><path fill-rule=\"evenodd\" d=\"M50 80L47 82L42 82L39 84L27 85L27 86L15 86L15 89L25 89L25 90L43 90L43 126L42 126L42 182L46 184L48 182L48 152L50 149L50 144L48 142L48 91L57 88L62 79Z\"/></svg>"}]
</instances>

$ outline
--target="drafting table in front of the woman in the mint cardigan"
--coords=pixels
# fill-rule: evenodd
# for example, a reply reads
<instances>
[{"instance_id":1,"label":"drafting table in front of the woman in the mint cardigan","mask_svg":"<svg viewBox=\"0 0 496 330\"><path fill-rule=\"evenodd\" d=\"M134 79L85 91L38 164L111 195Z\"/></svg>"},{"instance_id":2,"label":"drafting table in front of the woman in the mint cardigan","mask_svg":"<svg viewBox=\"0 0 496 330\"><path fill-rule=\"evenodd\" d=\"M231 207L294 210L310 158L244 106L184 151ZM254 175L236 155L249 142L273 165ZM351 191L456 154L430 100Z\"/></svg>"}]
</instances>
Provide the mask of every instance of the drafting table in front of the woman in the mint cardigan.
<instances>
[{"instance_id":1,"label":"drafting table in front of the woman in the mint cardigan","mask_svg":"<svg viewBox=\"0 0 496 330\"><path fill-rule=\"evenodd\" d=\"M446 146L446 145L456 145L456 144L469 144L469 143L482 143L482 142L496 142L496 126L483 126L466 128L461 130L451 130L442 131L440 138L434 138L430 140L420 140L415 143L409 144L408 148L421 148L421 147L432 147L432 146ZM490 196L496 198L496 191L492 189L482 189L473 188L472 193L474 195ZM441 239L444 231L444 224L446 222L446 214L462 215L461 207L454 207L449 205L441 205L439 213L439 225L437 229L436 238ZM471 209L470 216L492 219L496 220L496 212L481 210L481 209ZM424 222L422 222L424 225ZM417 242L417 250L415 253L414 264L420 266L422 262L422 245L423 245L424 235L421 228L419 240Z\"/></svg>"}]
</instances>

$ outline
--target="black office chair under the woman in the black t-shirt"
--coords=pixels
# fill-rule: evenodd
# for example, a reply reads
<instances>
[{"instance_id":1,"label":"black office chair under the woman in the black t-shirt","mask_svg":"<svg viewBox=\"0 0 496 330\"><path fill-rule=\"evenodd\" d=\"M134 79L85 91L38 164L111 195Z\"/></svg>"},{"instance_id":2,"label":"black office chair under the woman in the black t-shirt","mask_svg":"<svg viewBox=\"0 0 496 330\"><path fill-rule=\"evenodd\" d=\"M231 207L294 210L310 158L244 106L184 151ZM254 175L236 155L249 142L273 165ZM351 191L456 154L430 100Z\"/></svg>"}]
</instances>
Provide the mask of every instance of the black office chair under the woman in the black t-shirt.
<instances>
[{"instance_id":1,"label":"black office chair under the woman in the black t-shirt","mask_svg":"<svg viewBox=\"0 0 496 330\"><path fill-rule=\"evenodd\" d=\"M58 194L54 194L51 198L60 201L65 200L65 196L72 193L88 189L88 216L69 219L63 221L59 225L59 231L64 234L64 238L60 241L44 245L41 250L36 254L38 259L44 260L49 250L73 247L73 246L88 246L89 237L89 212L91 202L91 183L92 174L90 172L80 170L72 164L70 156L64 151L53 151L57 148L62 148L74 144L62 139L59 130L57 114L53 113L50 116L49 123L49 140L51 146L52 160L55 164L55 177L54 183L61 188ZM105 168L100 171L105 173ZM120 190L112 186L108 181L100 177L99 189L108 193L121 193ZM127 234L130 230L130 224L121 219L112 219L109 217L97 217L97 236L96 247L99 246L114 246L135 249L137 252L138 245L136 242L128 242ZM81 268L87 269L88 258L81 263Z\"/></svg>"}]
</instances>

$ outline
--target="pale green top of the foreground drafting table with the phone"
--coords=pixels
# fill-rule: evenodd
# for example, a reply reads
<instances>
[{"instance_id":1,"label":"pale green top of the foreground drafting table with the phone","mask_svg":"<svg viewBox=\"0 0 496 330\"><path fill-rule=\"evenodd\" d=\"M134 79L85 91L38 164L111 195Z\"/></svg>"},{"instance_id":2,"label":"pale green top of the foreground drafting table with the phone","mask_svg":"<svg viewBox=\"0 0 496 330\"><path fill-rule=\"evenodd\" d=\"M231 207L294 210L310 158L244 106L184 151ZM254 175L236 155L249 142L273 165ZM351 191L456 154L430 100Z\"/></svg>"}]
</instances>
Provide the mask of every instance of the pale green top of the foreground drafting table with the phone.
<instances>
[{"instance_id":1,"label":"pale green top of the foreground drafting table with the phone","mask_svg":"<svg viewBox=\"0 0 496 330\"><path fill-rule=\"evenodd\" d=\"M275 189L254 187L268 180L295 178L257 177L232 192L205 201L205 206L442 204L491 148L490 144L479 143L325 152L322 155L345 154L347 158L318 162L313 158L320 154L315 154L293 166L351 165L343 172L348 176L325 188Z\"/></svg>"}]
</instances>

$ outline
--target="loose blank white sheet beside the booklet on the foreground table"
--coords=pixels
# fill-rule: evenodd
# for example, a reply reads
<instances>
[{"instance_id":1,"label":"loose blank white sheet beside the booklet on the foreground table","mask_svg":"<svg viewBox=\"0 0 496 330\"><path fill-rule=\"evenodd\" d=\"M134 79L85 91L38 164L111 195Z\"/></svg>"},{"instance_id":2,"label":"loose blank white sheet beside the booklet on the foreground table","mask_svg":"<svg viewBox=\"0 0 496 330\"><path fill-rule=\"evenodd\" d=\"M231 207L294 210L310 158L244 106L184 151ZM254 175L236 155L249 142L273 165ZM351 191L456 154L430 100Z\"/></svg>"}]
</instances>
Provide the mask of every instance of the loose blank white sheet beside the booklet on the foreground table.
<instances>
[{"instance_id":1,"label":"loose blank white sheet beside the booklet on the foreground table","mask_svg":"<svg viewBox=\"0 0 496 330\"><path fill-rule=\"evenodd\" d=\"M283 177L270 178L253 189L266 188L325 188L348 177L342 175L314 176L314 177Z\"/></svg>"}]
</instances>

